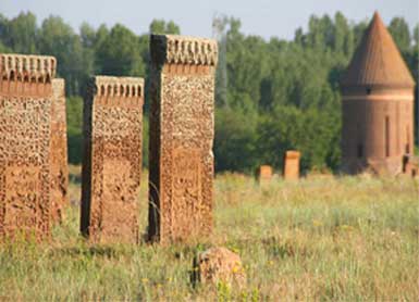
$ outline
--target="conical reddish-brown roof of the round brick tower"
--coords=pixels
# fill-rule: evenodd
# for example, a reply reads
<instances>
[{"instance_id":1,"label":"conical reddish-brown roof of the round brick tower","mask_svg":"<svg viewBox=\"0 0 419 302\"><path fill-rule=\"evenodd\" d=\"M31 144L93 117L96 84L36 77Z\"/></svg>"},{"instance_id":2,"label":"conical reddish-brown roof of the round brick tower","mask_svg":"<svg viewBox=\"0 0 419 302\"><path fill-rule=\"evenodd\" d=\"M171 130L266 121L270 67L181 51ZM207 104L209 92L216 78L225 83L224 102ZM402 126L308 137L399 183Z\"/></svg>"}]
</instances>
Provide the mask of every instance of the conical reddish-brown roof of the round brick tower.
<instances>
[{"instance_id":1,"label":"conical reddish-brown roof of the round brick tower","mask_svg":"<svg viewBox=\"0 0 419 302\"><path fill-rule=\"evenodd\" d=\"M415 86L400 52L377 12L363 34L342 84L344 87Z\"/></svg>"}]
</instances>

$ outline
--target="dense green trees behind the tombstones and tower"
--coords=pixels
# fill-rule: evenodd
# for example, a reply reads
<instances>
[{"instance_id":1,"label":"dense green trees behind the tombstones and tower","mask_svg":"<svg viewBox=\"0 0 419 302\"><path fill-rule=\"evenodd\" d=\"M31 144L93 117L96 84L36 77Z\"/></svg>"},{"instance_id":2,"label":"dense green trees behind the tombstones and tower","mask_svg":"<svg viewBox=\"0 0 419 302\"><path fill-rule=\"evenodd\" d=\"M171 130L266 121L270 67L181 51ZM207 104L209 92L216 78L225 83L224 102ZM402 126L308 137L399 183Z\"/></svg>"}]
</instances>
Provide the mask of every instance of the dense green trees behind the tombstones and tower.
<instances>
[{"instance_id":1,"label":"dense green trees behind the tombstones and tower","mask_svg":"<svg viewBox=\"0 0 419 302\"><path fill-rule=\"evenodd\" d=\"M281 168L287 149L303 153L303 167L340 165L340 79L367 22L349 23L311 16L308 30L298 28L292 41L241 32L235 18L217 18L220 41L217 77L215 168L250 172L262 163ZM418 78L419 25L410 33L406 21L394 17L392 33L415 78ZM149 33L180 34L173 22L153 21ZM50 16L37 25L32 13L8 20L0 15L0 52L57 56L58 74L65 78L69 150L81 162L82 96L93 74L147 78L149 33L137 36L121 24L76 33L62 18ZM146 100L145 128L147 128ZM144 136L147 139L147 134ZM147 140L145 141L147 142ZM147 143L144 148L147 164Z\"/></svg>"}]
</instances>

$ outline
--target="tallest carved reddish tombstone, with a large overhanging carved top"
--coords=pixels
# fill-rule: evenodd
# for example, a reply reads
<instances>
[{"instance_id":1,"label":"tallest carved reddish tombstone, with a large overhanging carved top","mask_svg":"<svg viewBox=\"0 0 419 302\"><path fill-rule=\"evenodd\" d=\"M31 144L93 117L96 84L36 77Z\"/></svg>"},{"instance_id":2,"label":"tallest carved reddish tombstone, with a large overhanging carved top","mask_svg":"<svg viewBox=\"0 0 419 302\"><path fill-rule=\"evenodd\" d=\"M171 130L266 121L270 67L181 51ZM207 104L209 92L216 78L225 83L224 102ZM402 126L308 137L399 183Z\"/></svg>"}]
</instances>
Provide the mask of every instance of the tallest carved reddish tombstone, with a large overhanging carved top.
<instances>
[{"instance_id":1,"label":"tallest carved reddish tombstone, with a large overhanging carved top","mask_svg":"<svg viewBox=\"0 0 419 302\"><path fill-rule=\"evenodd\" d=\"M150 240L169 242L212 229L214 40L150 40Z\"/></svg>"}]
</instances>

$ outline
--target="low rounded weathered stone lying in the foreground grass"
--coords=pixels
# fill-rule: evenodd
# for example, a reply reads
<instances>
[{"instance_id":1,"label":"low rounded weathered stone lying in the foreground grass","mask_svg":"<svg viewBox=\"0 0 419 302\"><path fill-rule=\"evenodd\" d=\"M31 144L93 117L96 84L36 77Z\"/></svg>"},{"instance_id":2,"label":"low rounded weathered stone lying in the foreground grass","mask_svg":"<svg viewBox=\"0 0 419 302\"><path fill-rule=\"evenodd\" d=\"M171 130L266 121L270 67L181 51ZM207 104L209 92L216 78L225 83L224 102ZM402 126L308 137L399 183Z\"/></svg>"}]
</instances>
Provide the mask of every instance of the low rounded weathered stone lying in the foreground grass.
<instances>
[{"instance_id":1,"label":"low rounded weathered stone lying in the foreground grass","mask_svg":"<svg viewBox=\"0 0 419 302\"><path fill-rule=\"evenodd\" d=\"M225 248L211 248L200 253L194 260L194 272L195 282L224 282L238 288L246 286L246 272L239 255Z\"/></svg>"}]
</instances>

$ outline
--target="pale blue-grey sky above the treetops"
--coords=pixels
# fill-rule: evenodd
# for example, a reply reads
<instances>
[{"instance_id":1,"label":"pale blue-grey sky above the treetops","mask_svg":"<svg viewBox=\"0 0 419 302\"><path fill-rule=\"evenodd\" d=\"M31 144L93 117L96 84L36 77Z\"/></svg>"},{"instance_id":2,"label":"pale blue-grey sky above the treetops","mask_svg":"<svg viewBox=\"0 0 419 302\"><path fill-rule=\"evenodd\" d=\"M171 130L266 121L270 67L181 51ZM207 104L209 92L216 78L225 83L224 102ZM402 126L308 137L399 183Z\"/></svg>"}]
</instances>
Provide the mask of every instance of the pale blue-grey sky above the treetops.
<instances>
[{"instance_id":1,"label":"pale blue-grey sky above the treetops","mask_svg":"<svg viewBox=\"0 0 419 302\"><path fill-rule=\"evenodd\" d=\"M311 14L334 15L336 11L354 22L372 17L377 10L386 24L403 16L412 28L419 20L418 0L0 0L0 13L8 18L33 12L40 23L59 15L78 29L83 22L94 27L121 23L136 34L148 32L153 18L172 20L183 35L212 36L215 14L238 17L242 32L292 39L295 29L307 28Z\"/></svg>"}]
</instances>

